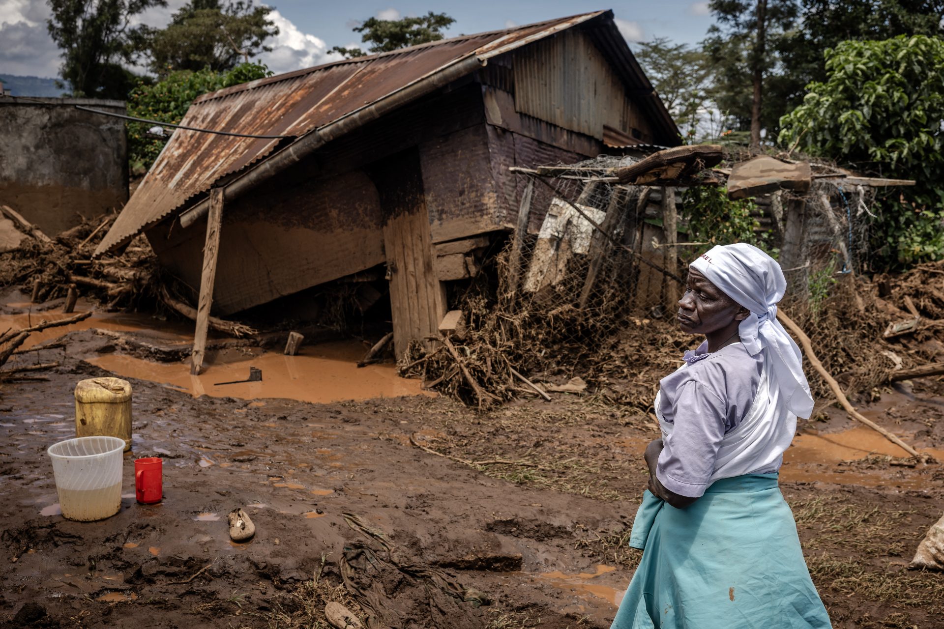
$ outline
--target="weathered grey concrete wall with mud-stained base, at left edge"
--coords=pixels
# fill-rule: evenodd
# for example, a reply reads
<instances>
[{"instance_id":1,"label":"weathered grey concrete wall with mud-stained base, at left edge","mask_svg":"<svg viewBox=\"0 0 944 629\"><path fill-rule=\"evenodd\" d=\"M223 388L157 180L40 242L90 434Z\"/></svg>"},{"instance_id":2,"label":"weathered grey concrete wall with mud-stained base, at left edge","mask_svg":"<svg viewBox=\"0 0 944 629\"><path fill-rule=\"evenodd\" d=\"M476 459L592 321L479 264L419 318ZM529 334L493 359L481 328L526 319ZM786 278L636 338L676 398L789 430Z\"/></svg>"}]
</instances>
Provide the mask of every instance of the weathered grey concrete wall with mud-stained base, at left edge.
<instances>
[{"instance_id":1,"label":"weathered grey concrete wall with mud-stained base, at left edge","mask_svg":"<svg viewBox=\"0 0 944 629\"><path fill-rule=\"evenodd\" d=\"M0 98L0 203L47 234L127 201L125 121L76 105L126 113L122 101Z\"/></svg>"}]
</instances>

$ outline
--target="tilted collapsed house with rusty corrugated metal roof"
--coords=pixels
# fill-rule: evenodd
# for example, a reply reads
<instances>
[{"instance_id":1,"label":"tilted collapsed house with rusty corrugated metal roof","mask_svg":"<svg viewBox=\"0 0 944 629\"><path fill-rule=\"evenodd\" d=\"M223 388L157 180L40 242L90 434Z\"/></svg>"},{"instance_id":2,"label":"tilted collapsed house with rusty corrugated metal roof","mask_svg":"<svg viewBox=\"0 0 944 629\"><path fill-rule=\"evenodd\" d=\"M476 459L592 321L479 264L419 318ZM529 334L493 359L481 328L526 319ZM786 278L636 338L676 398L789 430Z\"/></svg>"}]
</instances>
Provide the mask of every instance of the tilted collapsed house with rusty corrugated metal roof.
<instances>
[{"instance_id":1,"label":"tilted collapsed house with rusty corrugated metal roof","mask_svg":"<svg viewBox=\"0 0 944 629\"><path fill-rule=\"evenodd\" d=\"M144 233L221 315L379 271L397 356L514 227L509 167L679 137L612 11L279 74L201 96L181 124L250 137L177 129L96 255Z\"/></svg>"}]
</instances>

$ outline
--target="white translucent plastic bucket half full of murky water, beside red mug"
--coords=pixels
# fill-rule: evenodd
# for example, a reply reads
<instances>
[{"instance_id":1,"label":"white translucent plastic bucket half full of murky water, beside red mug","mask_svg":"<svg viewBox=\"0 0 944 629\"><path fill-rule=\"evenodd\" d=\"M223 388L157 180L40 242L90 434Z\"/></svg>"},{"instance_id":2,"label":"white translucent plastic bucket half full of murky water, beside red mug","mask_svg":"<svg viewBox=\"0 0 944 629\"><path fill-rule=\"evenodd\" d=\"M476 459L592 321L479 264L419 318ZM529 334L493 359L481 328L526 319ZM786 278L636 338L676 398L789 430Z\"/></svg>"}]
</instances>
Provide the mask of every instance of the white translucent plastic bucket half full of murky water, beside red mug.
<instances>
[{"instance_id":1,"label":"white translucent plastic bucket half full of murky water, beside red mug","mask_svg":"<svg viewBox=\"0 0 944 629\"><path fill-rule=\"evenodd\" d=\"M79 437L49 446L62 516L104 520L121 509L122 452L117 437Z\"/></svg>"}]
</instances>

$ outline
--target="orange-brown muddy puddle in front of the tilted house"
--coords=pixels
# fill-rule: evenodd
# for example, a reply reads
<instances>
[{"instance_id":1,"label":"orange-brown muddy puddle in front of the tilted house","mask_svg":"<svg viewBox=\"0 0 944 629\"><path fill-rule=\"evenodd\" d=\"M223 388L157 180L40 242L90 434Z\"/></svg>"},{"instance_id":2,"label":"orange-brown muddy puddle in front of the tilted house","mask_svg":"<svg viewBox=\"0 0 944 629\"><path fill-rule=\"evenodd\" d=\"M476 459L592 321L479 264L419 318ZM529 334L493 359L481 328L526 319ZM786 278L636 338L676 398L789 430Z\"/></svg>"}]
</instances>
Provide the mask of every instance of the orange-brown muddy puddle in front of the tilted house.
<instances>
[{"instance_id":1,"label":"orange-brown muddy puddle in front of the tilted house","mask_svg":"<svg viewBox=\"0 0 944 629\"><path fill-rule=\"evenodd\" d=\"M89 360L118 375L158 382L194 397L236 397L244 400L288 398L327 404L401 395L435 395L421 389L418 380L396 375L393 365L358 369L364 349L354 341L334 341L302 348L298 356L266 352L259 356L211 356L205 372L191 375L189 362L157 363L135 356L108 354ZM244 380L249 367L262 370L261 382L234 385L217 383Z\"/></svg>"}]
</instances>

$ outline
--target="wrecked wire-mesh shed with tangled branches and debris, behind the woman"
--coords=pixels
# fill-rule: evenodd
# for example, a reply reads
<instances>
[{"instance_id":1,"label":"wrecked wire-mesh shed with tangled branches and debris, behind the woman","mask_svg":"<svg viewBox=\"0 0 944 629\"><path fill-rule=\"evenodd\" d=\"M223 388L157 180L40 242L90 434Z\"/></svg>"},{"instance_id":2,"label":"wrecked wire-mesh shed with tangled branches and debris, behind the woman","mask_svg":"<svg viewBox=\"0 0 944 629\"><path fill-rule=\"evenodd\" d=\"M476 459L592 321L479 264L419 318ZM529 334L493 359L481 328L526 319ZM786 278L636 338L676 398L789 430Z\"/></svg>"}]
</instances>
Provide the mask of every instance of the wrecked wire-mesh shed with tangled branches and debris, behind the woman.
<instances>
[{"instance_id":1,"label":"wrecked wire-mesh shed with tangled branches and debris, behind the woman","mask_svg":"<svg viewBox=\"0 0 944 629\"><path fill-rule=\"evenodd\" d=\"M822 367L847 396L944 358L944 346L920 332L944 318L944 267L922 265L895 281L857 274L868 259L869 186L909 182L876 184L827 164L767 156L729 155L709 169L720 147L687 149L642 161L603 156L514 169L525 186L511 239L451 304L462 324L441 326L443 342L429 353L413 343L400 373L479 408L546 396L575 377L603 399L649 407L658 380L696 340L672 315L686 260L710 244L677 241L684 212L672 186L725 184L741 198L767 195L768 229L787 249L785 214L802 211L804 229L781 252L782 265L783 254L801 261L799 272L787 269L794 298L783 310L814 340ZM908 315L899 306L904 293L918 285L918 332L886 338L885 329ZM915 351L915 342L923 349ZM826 379L807 367L814 392L833 403Z\"/></svg>"}]
</instances>

